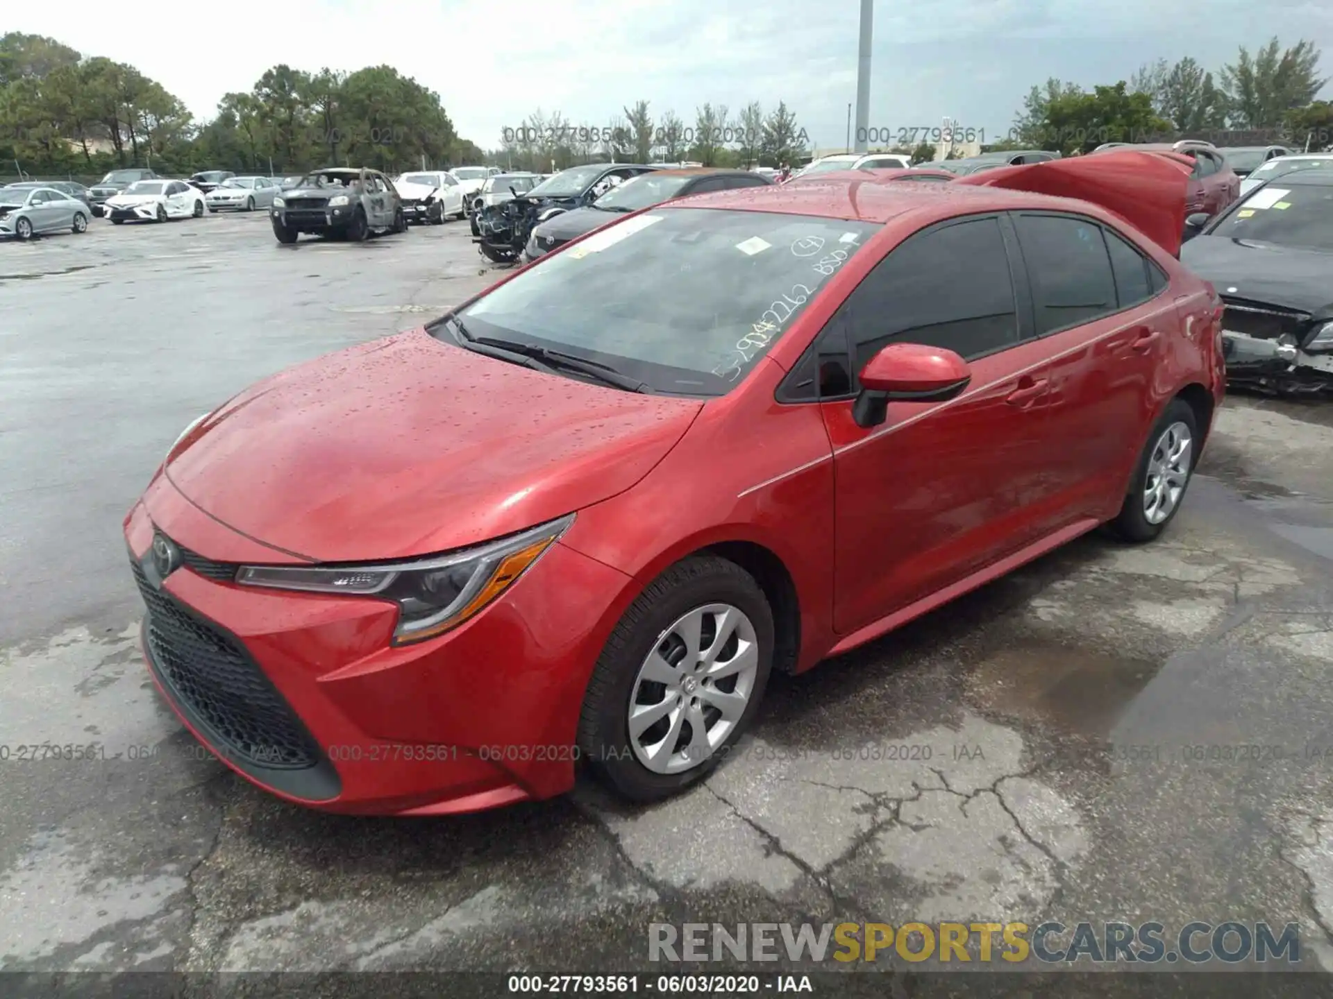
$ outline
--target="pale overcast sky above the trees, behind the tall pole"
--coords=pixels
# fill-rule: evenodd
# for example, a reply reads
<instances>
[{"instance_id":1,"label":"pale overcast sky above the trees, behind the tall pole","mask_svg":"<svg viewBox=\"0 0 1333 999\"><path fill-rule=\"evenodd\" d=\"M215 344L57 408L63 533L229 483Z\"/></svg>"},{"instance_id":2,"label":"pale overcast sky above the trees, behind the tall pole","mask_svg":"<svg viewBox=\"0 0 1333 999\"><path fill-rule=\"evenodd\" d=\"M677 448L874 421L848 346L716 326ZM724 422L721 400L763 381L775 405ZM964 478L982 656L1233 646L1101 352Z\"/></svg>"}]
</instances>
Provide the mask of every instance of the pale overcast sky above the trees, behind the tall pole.
<instances>
[{"instance_id":1,"label":"pale overcast sky above the trees, behind the tall pole","mask_svg":"<svg viewBox=\"0 0 1333 999\"><path fill-rule=\"evenodd\" d=\"M704 101L733 111L785 100L818 147L842 145L856 100L857 0L227 0L184 7L13 4L5 29L49 35L136 65L199 119L271 65L388 63L440 93L483 148L528 112L605 124L648 100L693 124ZM870 125L1002 136L1033 83L1128 79L1157 57L1208 68L1277 35L1310 39L1333 75L1328 0L877 0ZM1328 99L1333 87L1325 88Z\"/></svg>"}]
</instances>

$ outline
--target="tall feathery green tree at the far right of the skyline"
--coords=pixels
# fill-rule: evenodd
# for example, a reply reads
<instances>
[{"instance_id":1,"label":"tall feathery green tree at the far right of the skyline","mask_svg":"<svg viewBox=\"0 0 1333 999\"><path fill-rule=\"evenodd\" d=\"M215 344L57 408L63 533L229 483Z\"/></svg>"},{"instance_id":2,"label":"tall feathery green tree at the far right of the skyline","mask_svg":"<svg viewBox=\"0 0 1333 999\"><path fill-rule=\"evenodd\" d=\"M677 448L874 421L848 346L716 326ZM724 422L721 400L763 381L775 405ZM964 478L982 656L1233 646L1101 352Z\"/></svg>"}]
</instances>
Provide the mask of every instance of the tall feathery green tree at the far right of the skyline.
<instances>
[{"instance_id":1,"label":"tall feathery green tree at the far right of the skyline","mask_svg":"<svg viewBox=\"0 0 1333 999\"><path fill-rule=\"evenodd\" d=\"M1277 37L1253 56L1241 45L1240 55L1218 72L1236 128L1277 128L1286 112L1304 108L1328 83L1318 75L1320 49L1298 41L1284 49Z\"/></svg>"}]
</instances>

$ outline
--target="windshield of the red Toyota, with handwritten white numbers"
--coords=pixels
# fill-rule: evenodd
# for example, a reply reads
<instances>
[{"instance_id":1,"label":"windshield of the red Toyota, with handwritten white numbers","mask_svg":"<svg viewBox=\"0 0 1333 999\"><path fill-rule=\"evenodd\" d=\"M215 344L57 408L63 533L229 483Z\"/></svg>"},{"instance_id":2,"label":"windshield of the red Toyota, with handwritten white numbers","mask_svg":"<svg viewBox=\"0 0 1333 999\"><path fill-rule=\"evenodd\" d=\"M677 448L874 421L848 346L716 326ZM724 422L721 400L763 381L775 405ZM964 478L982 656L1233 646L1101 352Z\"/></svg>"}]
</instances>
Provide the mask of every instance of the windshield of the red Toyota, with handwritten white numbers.
<instances>
[{"instance_id":1,"label":"windshield of the red Toyota, with handwritten white numbers","mask_svg":"<svg viewBox=\"0 0 1333 999\"><path fill-rule=\"evenodd\" d=\"M678 208L597 230L459 313L473 337L611 365L659 392L721 396L878 225Z\"/></svg>"}]
</instances>

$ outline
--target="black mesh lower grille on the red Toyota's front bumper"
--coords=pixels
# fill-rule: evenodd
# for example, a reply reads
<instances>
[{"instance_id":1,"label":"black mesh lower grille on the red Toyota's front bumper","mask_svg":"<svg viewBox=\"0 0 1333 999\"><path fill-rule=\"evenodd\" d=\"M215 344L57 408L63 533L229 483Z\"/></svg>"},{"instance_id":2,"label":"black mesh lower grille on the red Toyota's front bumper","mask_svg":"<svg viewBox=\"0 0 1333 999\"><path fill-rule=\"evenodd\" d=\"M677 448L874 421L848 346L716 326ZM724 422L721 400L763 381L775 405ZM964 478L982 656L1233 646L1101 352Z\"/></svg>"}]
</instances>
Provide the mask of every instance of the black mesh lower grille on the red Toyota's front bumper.
<instances>
[{"instance_id":1,"label":"black mesh lower grille on the red Toyota's front bumper","mask_svg":"<svg viewBox=\"0 0 1333 999\"><path fill-rule=\"evenodd\" d=\"M137 559L131 566L148 607L149 657L172 698L204 722L203 734L253 766L319 765L315 739L240 643L153 589Z\"/></svg>"}]
</instances>

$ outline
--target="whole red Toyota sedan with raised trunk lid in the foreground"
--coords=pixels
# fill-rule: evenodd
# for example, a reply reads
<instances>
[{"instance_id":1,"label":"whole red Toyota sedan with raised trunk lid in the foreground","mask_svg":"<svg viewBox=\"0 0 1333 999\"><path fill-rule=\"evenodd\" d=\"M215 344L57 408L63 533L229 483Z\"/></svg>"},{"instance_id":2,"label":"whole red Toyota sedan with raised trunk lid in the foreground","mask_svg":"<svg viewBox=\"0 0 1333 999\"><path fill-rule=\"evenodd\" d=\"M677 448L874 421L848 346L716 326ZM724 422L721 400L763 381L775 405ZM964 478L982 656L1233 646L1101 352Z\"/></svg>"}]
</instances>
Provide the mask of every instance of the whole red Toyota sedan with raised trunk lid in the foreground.
<instances>
[{"instance_id":1,"label":"whole red Toyota sedan with raised trunk lid in the foreground","mask_svg":"<svg viewBox=\"0 0 1333 999\"><path fill-rule=\"evenodd\" d=\"M260 382L125 519L153 679L303 805L469 811L581 762L648 801L772 670L1156 537L1220 312L1174 258L1184 173L1120 156L660 205Z\"/></svg>"}]
</instances>

